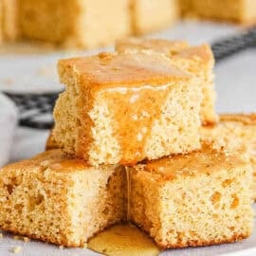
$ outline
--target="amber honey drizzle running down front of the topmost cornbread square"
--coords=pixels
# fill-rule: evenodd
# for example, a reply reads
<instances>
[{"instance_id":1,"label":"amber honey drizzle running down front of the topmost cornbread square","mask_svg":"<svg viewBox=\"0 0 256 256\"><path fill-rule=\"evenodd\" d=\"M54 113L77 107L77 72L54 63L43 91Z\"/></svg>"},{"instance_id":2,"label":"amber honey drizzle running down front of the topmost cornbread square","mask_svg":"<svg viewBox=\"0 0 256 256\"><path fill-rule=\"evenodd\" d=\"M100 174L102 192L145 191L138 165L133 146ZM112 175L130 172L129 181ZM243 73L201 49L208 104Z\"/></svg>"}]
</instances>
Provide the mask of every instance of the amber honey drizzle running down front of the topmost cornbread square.
<instances>
[{"instance_id":1,"label":"amber honey drizzle running down front of the topmost cornbread square","mask_svg":"<svg viewBox=\"0 0 256 256\"><path fill-rule=\"evenodd\" d=\"M122 165L133 165L145 157L147 138L151 136L155 119L161 116L161 108L171 88L166 85L155 88L129 89L106 92L108 108L114 112L114 131L120 145ZM119 106L119 107L117 107Z\"/></svg>"}]
</instances>

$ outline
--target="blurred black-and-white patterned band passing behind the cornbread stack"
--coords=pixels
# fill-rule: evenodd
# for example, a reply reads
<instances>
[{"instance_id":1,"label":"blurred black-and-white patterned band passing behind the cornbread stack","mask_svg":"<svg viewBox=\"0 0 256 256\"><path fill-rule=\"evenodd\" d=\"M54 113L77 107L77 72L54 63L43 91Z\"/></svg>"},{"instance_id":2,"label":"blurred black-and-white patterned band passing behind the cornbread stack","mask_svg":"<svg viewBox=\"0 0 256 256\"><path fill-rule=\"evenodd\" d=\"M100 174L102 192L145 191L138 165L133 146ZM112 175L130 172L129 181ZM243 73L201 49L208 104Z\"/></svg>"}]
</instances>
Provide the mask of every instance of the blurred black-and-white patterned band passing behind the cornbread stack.
<instances>
[{"instance_id":1,"label":"blurred black-and-white patterned band passing behind the cornbread stack","mask_svg":"<svg viewBox=\"0 0 256 256\"><path fill-rule=\"evenodd\" d=\"M211 44L216 64L248 47L255 46L256 27ZM21 126L36 129L50 129L53 126L52 110L59 93L6 95L18 106Z\"/></svg>"}]
</instances>

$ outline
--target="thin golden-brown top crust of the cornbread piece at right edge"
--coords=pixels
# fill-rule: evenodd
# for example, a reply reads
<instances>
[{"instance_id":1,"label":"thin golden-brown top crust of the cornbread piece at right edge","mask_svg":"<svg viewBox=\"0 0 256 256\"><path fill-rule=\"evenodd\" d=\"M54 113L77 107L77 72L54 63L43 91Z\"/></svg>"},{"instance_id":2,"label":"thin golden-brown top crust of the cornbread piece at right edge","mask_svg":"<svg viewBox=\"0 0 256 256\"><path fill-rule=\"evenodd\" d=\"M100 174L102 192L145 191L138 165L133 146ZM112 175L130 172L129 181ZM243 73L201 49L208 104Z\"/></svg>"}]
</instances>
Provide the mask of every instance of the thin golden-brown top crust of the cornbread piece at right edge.
<instances>
[{"instance_id":1,"label":"thin golden-brown top crust of the cornbread piece at right edge","mask_svg":"<svg viewBox=\"0 0 256 256\"><path fill-rule=\"evenodd\" d=\"M245 125L256 125L256 113L246 114L223 114L220 115L221 121L241 122Z\"/></svg>"}]
</instances>

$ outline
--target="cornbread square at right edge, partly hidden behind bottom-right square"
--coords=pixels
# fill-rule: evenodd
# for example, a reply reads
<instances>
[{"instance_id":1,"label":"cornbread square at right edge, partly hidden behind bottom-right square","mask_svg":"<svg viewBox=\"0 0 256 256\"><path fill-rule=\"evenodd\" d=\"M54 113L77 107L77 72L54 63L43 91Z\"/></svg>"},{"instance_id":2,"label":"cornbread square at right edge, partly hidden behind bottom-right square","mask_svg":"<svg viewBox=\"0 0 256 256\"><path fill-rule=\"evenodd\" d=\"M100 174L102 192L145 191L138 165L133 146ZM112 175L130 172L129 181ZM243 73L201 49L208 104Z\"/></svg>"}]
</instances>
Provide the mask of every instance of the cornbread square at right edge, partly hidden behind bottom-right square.
<instances>
[{"instance_id":1,"label":"cornbread square at right edge, partly hidden behind bottom-right square","mask_svg":"<svg viewBox=\"0 0 256 256\"><path fill-rule=\"evenodd\" d=\"M256 114L220 115L220 122L201 128L201 139L217 151L239 152L252 165L252 197L256 200Z\"/></svg>"}]
</instances>

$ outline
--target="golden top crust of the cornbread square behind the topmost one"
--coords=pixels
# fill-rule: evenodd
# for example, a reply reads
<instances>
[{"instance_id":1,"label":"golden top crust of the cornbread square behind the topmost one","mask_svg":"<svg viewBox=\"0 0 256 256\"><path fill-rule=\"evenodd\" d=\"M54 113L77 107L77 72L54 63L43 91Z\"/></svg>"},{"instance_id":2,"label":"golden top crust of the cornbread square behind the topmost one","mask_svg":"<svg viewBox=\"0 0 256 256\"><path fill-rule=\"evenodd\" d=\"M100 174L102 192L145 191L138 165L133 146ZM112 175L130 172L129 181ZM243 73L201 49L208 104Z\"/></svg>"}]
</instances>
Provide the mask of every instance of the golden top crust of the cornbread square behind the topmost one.
<instances>
[{"instance_id":1,"label":"golden top crust of the cornbread square behind the topmost one","mask_svg":"<svg viewBox=\"0 0 256 256\"><path fill-rule=\"evenodd\" d=\"M188 42L181 40L164 40L164 39L141 39L128 38L117 42L117 49L119 52L125 52L127 49L134 50L154 50L156 52L164 53L166 55L178 53L190 47Z\"/></svg>"}]
</instances>

